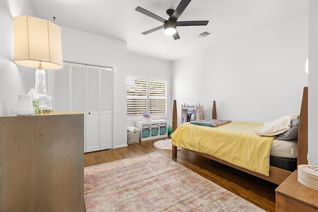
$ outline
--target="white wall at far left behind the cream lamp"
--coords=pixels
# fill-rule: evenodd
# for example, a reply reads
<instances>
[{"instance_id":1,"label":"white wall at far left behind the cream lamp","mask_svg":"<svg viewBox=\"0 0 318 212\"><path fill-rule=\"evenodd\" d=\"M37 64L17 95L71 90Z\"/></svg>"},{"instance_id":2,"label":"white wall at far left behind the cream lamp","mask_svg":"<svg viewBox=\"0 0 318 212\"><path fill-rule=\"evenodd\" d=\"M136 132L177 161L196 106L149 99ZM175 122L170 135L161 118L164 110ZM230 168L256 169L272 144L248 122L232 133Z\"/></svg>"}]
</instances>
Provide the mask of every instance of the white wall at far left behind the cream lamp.
<instances>
[{"instance_id":1,"label":"white wall at far left behind the cream lamp","mask_svg":"<svg viewBox=\"0 0 318 212\"><path fill-rule=\"evenodd\" d=\"M27 94L35 77L35 69L13 62L13 17L32 14L28 0L0 1L0 116L15 114L17 95Z\"/></svg>"}]
</instances>

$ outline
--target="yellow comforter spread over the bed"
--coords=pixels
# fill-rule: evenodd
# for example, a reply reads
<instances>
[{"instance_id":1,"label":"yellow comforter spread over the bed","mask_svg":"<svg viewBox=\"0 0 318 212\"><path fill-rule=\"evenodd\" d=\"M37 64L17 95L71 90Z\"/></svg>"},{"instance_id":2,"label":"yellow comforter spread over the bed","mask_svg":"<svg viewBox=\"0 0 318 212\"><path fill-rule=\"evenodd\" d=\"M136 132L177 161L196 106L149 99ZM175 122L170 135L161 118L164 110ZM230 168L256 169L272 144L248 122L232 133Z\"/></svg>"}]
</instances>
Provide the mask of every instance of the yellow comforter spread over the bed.
<instances>
[{"instance_id":1,"label":"yellow comforter spread over the bed","mask_svg":"<svg viewBox=\"0 0 318 212\"><path fill-rule=\"evenodd\" d=\"M274 137L256 135L255 132L262 127L263 124L231 122L213 128L187 122L171 134L171 143L268 176L269 154Z\"/></svg>"}]
</instances>

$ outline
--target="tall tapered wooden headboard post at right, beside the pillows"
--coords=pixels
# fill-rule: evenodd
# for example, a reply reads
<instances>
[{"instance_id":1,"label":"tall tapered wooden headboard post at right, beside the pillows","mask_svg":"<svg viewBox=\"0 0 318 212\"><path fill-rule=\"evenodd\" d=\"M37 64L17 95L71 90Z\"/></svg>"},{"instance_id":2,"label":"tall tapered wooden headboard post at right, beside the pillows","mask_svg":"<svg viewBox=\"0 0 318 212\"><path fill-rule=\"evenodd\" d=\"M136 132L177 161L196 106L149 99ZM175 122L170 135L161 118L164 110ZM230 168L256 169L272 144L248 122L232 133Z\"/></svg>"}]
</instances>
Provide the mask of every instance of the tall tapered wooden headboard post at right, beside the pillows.
<instances>
[{"instance_id":1,"label":"tall tapered wooden headboard post at right, beside the pillows","mask_svg":"<svg viewBox=\"0 0 318 212\"><path fill-rule=\"evenodd\" d=\"M304 87L302 106L299 114L297 154L297 166L308 164L308 87Z\"/></svg>"}]
</instances>

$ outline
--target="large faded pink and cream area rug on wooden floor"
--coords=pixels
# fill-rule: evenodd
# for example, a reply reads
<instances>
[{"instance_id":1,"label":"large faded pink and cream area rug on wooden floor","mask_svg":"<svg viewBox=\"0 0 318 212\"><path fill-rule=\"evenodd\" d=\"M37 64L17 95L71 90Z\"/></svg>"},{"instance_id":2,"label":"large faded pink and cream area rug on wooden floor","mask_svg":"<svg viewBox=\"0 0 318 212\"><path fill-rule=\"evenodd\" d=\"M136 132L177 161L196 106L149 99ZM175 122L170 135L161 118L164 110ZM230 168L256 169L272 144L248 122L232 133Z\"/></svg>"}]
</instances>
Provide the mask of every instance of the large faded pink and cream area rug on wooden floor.
<instances>
[{"instance_id":1,"label":"large faded pink and cream area rug on wooden floor","mask_svg":"<svg viewBox=\"0 0 318 212\"><path fill-rule=\"evenodd\" d=\"M87 212L264 212L158 152L84 168Z\"/></svg>"}]
</instances>

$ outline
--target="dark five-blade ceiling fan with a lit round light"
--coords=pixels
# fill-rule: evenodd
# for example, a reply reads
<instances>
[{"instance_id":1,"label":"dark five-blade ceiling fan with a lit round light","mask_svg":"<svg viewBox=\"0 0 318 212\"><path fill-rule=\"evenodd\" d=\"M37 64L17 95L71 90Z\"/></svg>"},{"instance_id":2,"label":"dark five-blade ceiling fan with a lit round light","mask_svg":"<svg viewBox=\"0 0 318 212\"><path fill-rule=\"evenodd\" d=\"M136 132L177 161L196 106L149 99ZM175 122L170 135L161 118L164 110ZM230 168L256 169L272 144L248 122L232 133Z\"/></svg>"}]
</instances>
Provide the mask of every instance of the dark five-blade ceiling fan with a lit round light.
<instances>
[{"instance_id":1,"label":"dark five-blade ceiling fan with a lit round light","mask_svg":"<svg viewBox=\"0 0 318 212\"><path fill-rule=\"evenodd\" d=\"M150 29L146 32L143 32L142 34L147 35L149 33L155 32L159 29L164 28L164 32L166 34L172 35L174 40L180 39L180 36L176 30L177 26L200 26L200 25L207 25L209 21L177 21L184 9L188 6L191 0L181 0L177 8L174 9L167 9L166 13L169 15L169 19L165 20L164 18L161 18L160 16L148 11L147 9L144 9L140 6L136 7L136 11L141 12L145 15L148 15L149 17L155 18L156 20L159 20L163 23L162 26L156 27L154 29Z\"/></svg>"}]
</instances>

